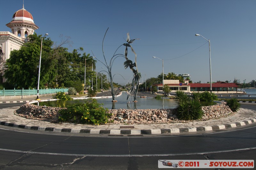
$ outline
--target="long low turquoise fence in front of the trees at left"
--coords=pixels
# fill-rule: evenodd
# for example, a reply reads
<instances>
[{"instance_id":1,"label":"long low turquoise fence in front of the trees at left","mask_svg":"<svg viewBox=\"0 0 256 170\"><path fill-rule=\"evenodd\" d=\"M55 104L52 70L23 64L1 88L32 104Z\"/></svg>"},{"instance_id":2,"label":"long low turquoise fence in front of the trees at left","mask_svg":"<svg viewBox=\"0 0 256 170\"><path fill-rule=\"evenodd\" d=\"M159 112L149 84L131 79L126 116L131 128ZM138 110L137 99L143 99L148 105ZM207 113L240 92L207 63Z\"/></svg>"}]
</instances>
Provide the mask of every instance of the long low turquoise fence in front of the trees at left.
<instances>
[{"instance_id":1,"label":"long low turquoise fence in front of the trees at left","mask_svg":"<svg viewBox=\"0 0 256 170\"><path fill-rule=\"evenodd\" d=\"M56 89L56 88L49 88L49 89L39 89L39 94L52 94L57 92L68 92L68 89ZM0 90L0 96L25 96L25 95L36 95L37 89L28 89L28 90Z\"/></svg>"}]
</instances>

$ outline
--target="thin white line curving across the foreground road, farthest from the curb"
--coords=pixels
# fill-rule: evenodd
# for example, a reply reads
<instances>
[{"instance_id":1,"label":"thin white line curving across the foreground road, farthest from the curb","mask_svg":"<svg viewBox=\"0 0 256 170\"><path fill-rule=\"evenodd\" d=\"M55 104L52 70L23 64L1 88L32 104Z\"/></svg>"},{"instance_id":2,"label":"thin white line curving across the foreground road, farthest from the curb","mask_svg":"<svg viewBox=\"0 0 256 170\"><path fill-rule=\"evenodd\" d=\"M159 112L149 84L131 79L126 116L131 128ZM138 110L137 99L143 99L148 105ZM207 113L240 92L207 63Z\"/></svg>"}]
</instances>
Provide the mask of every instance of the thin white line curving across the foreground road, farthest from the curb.
<instances>
[{"instance_id":1,"label":"thin white line curving across the foreground road, farthest from the curb","mask_svg":"<svg viewBox=\"0 0 256 170\"><path fill-rule=\"evenodd\" d=\"M141 154L141 155L94 155L94 154L68 154L68 153L49 153L49 152L31 152L31 151L19 151L12 149L2 149L0 151L7 152L19 152L19 153L29 153L29 154L42 154L42 155L63 155L63 156L91 156L91 157L145 157L145 156L180 156L180 155L197 155L197 154L209 154L209 153L222 153L222 152L235 152L235 151L246 151L256 149L256 147L252 148L243 148L243 149L233 149L233 150L225 150L225 151L210 151L210 152L195 152L195 153L167 153L167 154Z\"/></svg>"}]
</instances>

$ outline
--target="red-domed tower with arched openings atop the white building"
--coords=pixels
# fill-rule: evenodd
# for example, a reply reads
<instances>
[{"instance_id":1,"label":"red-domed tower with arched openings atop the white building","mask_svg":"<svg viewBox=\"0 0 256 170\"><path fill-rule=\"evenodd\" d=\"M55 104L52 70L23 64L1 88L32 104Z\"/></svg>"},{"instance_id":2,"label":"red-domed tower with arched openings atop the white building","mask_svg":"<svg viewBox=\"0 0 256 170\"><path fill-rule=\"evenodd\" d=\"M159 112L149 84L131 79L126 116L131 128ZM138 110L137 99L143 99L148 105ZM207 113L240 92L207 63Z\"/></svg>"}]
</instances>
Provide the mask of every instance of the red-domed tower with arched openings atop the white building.
<instances>
[{"instance_id":1,"label":"red-domed tower with arched openings atop the white building","mask_svg":"<svg viewBox=\"0 0 256 170\"><path fill-rule=\"evenodd\" d=\"M24 9L24 4L22 9L13 14L12 21L6 26L11 28L12 33L22 38L22 40L25 40L28 35L33 34L39 28L35 25L31 13Z\"/></svg>"}]
</instances>

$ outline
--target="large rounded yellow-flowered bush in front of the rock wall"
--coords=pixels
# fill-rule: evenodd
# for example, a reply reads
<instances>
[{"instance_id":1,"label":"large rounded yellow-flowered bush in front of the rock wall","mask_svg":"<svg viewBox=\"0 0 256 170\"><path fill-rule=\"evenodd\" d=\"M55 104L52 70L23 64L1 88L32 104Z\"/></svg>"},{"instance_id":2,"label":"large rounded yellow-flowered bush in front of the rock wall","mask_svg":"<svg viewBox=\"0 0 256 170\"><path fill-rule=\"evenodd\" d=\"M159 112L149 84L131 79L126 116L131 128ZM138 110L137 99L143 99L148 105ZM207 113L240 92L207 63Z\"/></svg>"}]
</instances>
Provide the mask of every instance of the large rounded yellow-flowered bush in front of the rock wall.
<instances>
[{"instance_id":1,"label":"large rounded yellow-flowered bush in front of the rock wall","mask_svg":"<svg viewBox=\"0 0 256 170\"><path fill-rule=\"evenodd\" d=\"M87 99L84 102L76 102L67 109L59 111L59 120L62 122L74 122L84 124L106 124L112 114L101 106L96 99Z\"/></svg>"}]
</instances>

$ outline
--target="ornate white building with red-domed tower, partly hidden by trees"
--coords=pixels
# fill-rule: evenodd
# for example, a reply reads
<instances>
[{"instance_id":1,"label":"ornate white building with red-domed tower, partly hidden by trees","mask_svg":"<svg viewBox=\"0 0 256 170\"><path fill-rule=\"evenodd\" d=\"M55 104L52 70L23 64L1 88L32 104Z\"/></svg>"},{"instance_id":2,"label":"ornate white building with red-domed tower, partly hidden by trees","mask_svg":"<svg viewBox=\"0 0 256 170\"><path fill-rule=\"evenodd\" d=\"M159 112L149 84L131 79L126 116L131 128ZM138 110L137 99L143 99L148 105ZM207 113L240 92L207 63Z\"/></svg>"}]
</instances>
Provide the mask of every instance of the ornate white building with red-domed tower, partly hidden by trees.
<instances>
[{"instance_id":1,"label":"ornate white building with red-domed tower, partly hidden by trees","mask_svg":"<svg viewBox=\"0 0 256 170\"><path fill-rule=\"evenodd\" d=\"M3 69L3 64L10 57L12 50L19 50L20 47L27 41L28 35L31 35L39 27L35 25L32 15L24 9L16 11L12 16L12 21L8 24L12 33L9 31L0 31L0 64ZM0 69L1 69L0 66ZM5 82L3 75L0 75L0 82Z\"/></svg>"}]
</instances>

